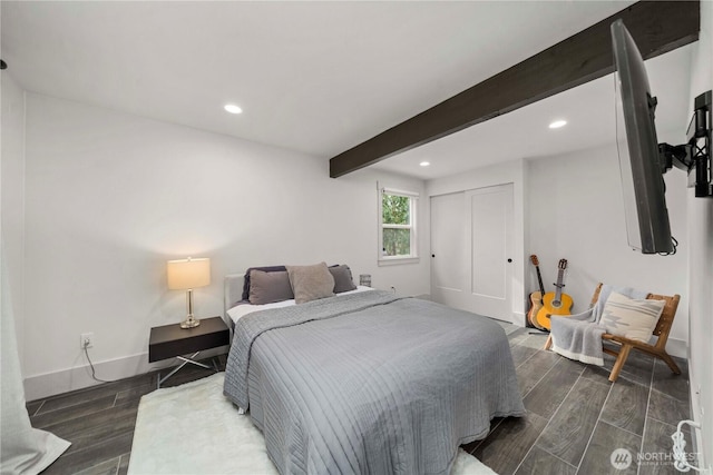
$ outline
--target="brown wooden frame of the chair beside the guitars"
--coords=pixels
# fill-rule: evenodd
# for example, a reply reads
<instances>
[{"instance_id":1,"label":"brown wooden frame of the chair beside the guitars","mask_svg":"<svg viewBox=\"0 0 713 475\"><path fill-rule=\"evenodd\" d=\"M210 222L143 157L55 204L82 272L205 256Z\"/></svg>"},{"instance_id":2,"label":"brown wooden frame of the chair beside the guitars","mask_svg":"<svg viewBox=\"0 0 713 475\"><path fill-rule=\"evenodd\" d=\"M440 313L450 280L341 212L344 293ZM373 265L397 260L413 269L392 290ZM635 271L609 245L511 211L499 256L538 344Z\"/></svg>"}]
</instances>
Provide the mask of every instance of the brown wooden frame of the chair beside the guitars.
<instances>
[{"instance_id":1,"label":"brown wooden frame of the chair beside the guitars","mask_svg":"<svg viewBox=\"0 0 713 475\"><path fill-rule=\"evenodd\" d=\"M602 290L602 284L597 286L594 291L594 296L592 297L592 305L594 306L599 298L599 291ZM618 335L612 335L605 333L602 335L603 340L615 343L619 346L618 352L616 349L604 347L604 353L615 356L616 362L614 363L614 367L612 368L612 373L609 374L609 380L614 383L622 372L622 367L624 367L624 363L626 363L626 358L628 358L628 354L632 349L638 349L641 352L647 353L652 356L663 359L666 362L671 370L680 375L681 369L673 360L671 355L666 353L666 342L668 340L668 334L671 333L671 326L673 325L673 318L676 315L676 309L678 308L678 301L681 300L680 295L674 295L673 297L665 295L656 295L648 294L646 298L652 298L655 300L666 300L666 305L664 306L663 311L661 313L661 317L658 317L658 323L652 333L656 337L655 344L636 342L633 339L625 338ZM604 344L604 342L603 342ZM549 335L547 337L547 342L545 343L545 349L549 349L553 345L553 336Z\"/></svg>"}]
</instances>

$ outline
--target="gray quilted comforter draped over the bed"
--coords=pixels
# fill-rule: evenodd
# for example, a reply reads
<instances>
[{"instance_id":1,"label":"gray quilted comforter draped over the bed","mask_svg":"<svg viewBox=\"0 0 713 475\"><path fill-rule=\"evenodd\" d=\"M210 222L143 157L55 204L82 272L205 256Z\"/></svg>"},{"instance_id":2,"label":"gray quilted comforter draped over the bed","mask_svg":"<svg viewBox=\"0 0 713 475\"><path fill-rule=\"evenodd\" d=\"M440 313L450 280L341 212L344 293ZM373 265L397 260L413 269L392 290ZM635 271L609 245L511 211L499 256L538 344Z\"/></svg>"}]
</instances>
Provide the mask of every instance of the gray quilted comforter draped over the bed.
<instances>
[{"instance_id":1,"label":"gray quilted comforter draped over the bed","mask_svg":"<svg viewBox=\"0 0 713 475\"><path fill-rule=\"evenodd\" d=\"M368 291L241 318L226 396L282 474L447 474L496 416L522 416L502 328Z\"/></svg>"}]
</instances>

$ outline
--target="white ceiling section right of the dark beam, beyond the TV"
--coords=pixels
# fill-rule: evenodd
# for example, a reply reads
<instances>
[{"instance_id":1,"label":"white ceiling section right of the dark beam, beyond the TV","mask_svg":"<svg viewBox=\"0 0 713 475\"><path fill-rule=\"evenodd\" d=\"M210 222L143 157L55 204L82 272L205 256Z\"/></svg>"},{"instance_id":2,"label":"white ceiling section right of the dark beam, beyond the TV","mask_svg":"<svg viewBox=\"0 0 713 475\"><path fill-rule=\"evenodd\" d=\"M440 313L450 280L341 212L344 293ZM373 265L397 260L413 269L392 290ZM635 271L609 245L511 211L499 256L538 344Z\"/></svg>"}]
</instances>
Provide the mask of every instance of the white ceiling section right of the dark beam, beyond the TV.
<instances>
[{"instance_id":1,"label":"white ceiling section right of the dark beam, beyond the TV","mask_svg":"<svg viewBox=\"0 0 713 475\"><path fill-rule=\"evenodd\" d=\"M646 61L652 93L658 100L658 141L683 144L691 119L693 46ZM537 159L599 147L616 139L614 75L608 75L514 112L391 157L372 167L433 179L514 159ZM566 120L549 129L554 120ZM423 168L419 164L428 161Z\"/></svg>"}]
</instances>

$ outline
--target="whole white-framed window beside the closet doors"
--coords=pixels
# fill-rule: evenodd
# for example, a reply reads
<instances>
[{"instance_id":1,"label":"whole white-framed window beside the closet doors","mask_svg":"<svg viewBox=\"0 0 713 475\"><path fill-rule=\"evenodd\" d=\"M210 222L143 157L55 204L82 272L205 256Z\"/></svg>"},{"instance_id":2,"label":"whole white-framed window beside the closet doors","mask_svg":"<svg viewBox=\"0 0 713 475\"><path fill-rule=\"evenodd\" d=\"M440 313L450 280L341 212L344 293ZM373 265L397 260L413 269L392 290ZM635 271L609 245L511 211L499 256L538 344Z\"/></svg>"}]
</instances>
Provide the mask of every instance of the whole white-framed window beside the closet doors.
<instances>
[{"instance_id":1,"label":"whole white-framed window beside the closet doors","mask_svg":"<svg viewBox=\"0 0 713 475\"><path fill-rule=\"evenodd\" d=\"M380 264L418 259L416 240L418 194L388 188L382 188L380 194Z\"/></svg>"}]
</instances>

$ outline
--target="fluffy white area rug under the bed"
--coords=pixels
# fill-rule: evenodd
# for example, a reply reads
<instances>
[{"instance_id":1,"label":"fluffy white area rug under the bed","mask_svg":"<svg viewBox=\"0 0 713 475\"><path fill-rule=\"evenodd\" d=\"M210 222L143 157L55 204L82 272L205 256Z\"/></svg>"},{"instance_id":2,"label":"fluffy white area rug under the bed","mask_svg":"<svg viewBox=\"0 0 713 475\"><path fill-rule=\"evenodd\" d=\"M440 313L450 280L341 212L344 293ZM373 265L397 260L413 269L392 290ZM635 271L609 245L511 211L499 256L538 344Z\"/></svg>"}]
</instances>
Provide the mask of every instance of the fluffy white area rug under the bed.
<instances>
[{"instance_id":1,"label":"fluffy white area rug under the bed","mask_svg":"<svg viewBox=\"0 0 713 475\"><path fill-rule=\"evenodd\" d=\"M223 396L224 373L141 397L130 475L277 475L262 433ZM451 475L497 475L459 449Z\"/></svg>"}]
</instances>

